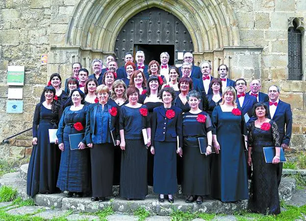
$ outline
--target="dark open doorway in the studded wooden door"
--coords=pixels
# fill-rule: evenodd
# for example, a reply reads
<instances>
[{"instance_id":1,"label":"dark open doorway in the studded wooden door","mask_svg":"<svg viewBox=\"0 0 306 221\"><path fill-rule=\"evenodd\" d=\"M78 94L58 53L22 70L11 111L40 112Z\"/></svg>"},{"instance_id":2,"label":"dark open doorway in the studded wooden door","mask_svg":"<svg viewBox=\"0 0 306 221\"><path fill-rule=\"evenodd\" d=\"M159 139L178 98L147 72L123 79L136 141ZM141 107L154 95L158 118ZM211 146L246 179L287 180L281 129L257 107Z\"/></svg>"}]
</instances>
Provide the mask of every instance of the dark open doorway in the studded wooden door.
<instances>
[{"instance_id":1,"label":"dark open doorway in the studded wooden door","mask_svg":"<svg viewBox=\"0 0 306 221\"><path fill-rule=\"evenodd\" d=\"M152 60L160 64L160 54L168 52L170 59L169 65L174 65L174 45L171 44L134 44L134 57L136 51L145 52L145 64L149 65Z\"/></svg>"}]
</instances>

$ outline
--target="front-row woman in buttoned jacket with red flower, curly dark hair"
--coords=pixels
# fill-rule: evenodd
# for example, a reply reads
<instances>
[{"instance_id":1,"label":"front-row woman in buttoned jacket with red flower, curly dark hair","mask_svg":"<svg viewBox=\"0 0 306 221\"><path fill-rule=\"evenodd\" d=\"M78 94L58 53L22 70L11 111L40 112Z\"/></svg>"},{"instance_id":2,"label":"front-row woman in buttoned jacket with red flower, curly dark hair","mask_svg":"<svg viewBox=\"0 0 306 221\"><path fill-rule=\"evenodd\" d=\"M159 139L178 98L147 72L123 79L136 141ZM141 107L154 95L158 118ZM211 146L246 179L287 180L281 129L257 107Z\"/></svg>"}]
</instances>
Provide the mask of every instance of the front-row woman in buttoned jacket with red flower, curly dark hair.
<instances>
[{"instance_id":1,"label":"front-row woman in buttoned jacket with red flower, curly dark hair","mask_svg":"<svg viewBox=\"0 0 306 221\"><path fill-rule=\"evenodd\" d=\"M150 151L154 155L153 191L159 194L159 202L168 195L168 201L173 203L178 189L176 154L182 146L182 110L172 105L175 96L173 88L163 88L159 98L164 105L153 110Z\"/></svg>"}]
</instances>

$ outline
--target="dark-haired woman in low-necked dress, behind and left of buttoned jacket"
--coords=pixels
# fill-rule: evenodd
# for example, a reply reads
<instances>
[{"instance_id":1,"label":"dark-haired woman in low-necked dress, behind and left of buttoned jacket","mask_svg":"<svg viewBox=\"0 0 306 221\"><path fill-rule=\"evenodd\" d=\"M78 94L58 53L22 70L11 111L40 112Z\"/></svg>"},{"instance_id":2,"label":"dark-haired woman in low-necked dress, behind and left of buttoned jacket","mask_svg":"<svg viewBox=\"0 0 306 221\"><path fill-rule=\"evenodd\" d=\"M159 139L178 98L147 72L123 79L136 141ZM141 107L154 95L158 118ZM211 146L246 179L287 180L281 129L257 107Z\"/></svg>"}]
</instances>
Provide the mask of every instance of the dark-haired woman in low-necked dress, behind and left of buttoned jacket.
<instances>
[{"instance_id":1,"label":"dark-haired woman in low-necked dress, behind and left of buttoned jacket","mask_svg":"<svg viewBox=\"0 0 306 221\"><path fill-rule=\"evenodd\" d=\"M138 102L147 106L149 110L149 118L152 123L153 109L163 104L160 97L158 97L161 85L158 81L158 76L152 75L147 82L147 92L139 96ZM151 124L152 125L152 124ZM148 185L153 186L153 167L154 156L148 151Z\"/></svg>"}]
</instances>

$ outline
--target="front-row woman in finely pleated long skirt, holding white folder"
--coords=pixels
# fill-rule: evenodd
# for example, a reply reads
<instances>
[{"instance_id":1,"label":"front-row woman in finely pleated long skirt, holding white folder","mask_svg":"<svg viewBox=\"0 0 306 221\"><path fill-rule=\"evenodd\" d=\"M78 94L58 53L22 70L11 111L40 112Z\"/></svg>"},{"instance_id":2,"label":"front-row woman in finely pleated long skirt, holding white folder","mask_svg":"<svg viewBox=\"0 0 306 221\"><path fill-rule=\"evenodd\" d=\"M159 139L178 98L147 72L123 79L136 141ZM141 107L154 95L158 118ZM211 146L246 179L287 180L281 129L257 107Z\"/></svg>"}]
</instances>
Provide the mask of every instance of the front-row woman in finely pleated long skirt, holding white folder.
<instances>
[{"instance_id":1,"label":"front-row woman in finely pleated long skirt, holding white folder","mask_svg":"<svg viewBox=\"0 0 306 221\"><path fill-rule=\"evenodd\" d=\"M147 133L151 145L151 127L147 106L139 104L139 90L129 87L128 104L120 108L120 148L121 175L120 195L126 199L145 199L148 194L147 183L147 148L144 144L144 133ZM137 188L136 188L137 187Z\"/></svg>"}]
</instances>

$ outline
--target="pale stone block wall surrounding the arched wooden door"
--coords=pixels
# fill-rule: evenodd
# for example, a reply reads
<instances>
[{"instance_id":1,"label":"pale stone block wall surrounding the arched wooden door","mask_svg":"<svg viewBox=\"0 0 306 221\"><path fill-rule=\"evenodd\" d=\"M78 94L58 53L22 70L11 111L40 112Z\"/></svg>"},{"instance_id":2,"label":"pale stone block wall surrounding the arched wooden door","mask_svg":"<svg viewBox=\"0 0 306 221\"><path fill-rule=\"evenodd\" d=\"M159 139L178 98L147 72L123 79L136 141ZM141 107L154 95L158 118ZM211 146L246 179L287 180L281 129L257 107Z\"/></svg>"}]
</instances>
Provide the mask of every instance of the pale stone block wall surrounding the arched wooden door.
<instances>
[{"instance_id":1,"label":"pale stone block wall surrounding the arched wooden door","mask_svg":"<svg viewBox=\"0 0 306 221\"><path fill-rule=\"evenodd\" d=\"M104 23L86 24L87 19L88 21L89 19L94 21L92 19L94 14L77 20L80 14L86 12L87 8L84 6L86 2L87 0L0 1L0 104L3 107L0 109L0 141L7 136L31 127L35 104L39 102L42 89L51 73L58 72L65 79L71 74L71 64L73 62L80 61L83 66L90 69L91 61L94 58L104 58L105 54L112 52L113 49L109 49L109 41L100 41L99 36L95 36L95 33L99 32L100 29L104 31ZM92 0L88 4L98 15L98 11L106 14L103 13L103 8L107 8L104 5L105 2ZM125 0L122 2L128 3L131 1ZM181 0L148 0L146 3L141 0L134 0L132 2L142 2L135 7L134 14L142 10L141 8L149 7L149 4L153 6L161 5L161 7L176 4L176 13L183 11L186 13L184 15L186 17L194 13L191 9L191 5L193 5L199 7L199 9L202 8L203 13L211 10L213 14L211 19L215 19L215 17L219 19L220 15L216 15L220 9L224 13L224 17L229 18L229 20L222 21L222 24L220 24L220 27L229 30L227 32L229 39L222 39L222 34L216 35L215 30L209 28L207 29L208 37L205 36L212 42L206 40L206 37L202 39L199 37L199 33L203 33L204 30L201 29L202 24L200 24L199 28L201 30L195 30L196 34L191 33L193 38L196 38L193 41L199 48L199 51L194 53L196 63L203 59L212 61L215 76L217 76L216 68L219 64L229 64L231 78L235 79L242 76L248 81L253 78L261 78L263 80L263 92L266 92L271 84L279 85L281 99L289 102L293 109L294 134L291 147L295 150L306 149L306 109L304 109L306 105L306 82L286 80L288 75L288 19L295 17L306 19L305 0L191 0L188 5L183 5ZM214 4L218 4L220 8L215 9L216 7L212 7ZM200 13L200 17L190 16L189 20L200 21L201 10L198 10L197 13ZM179 18L178 15L176 16ZM203 15L204 17L207 18L206 15ZM96 18L96 21L103 19L107 20L103 16L101 19ZM118 23L127 21L125 19L118 18ZM190 22L189 20L188 22ZM214 22L216 21L221 20L215 20ZM189 28L188 25L191 22L188 22L185 21L184 23ZM116 23L116 21L113 23ZM83 28L82 24L87 25L88 29ZM228 27L225 26L226 24ZM115 25L119 24L116 23ZM73 34L77 30L72 26L77 27L79 31L76 35ZM214 25L212 26L214 27ZM118 33L113 32L118 27L107 27L107 33L111 33L110 36L115 38L114 36L117 36ZM86 30L88 31L86 32ZM84 38L86 41L78 41L84 36L86 36ZM213 40L216 40L213 39L213 36L218 38L219 44L213 42ZM93 42L94 39L96 39L94 45L97 47L90 47L88 43ZM208 41L209 46L204 45L206 41ZM305 48L305 31L303 31L303 41ZM76 42L79 44L74 44ZM226 45L227 42L228 45ZM219 45L220 48L216 48L216 45ZM105 48L109 50L105 50ZM42 66L40 56L45 53L48 53L48 65ZM304 49L304 77L306 75L305 61L306 51ZM7 66L11 65L26 67L25 86L23 87L24 113L22 114L8 114L5 110L8 90L6 72ZM25 147L30 147L30 140L30 133L26 133L10 140L9 145L0 145L0 157L30 154L30 149L25 149Z\"/></svg>"}]
</instances>

